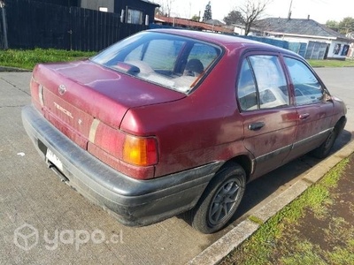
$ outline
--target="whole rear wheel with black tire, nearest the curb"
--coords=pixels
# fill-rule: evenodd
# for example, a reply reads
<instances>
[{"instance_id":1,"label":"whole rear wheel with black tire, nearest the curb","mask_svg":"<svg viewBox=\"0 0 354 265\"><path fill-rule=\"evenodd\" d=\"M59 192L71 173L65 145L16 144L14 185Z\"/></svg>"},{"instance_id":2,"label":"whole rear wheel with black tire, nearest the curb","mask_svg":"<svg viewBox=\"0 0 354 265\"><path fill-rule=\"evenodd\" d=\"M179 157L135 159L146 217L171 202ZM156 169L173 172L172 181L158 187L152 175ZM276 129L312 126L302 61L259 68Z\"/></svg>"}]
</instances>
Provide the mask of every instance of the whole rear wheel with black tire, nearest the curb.
<instances>
[{"instance_id":1,"label":"whole rear wheel with black tire, nearest the curb","mask_svg":"<svg viewBox=\"0 0 354 265\"><path fill-rule=\"evenodd\" d=\"M246 173L237 163L227 163L212 178L202 197L191 210L196 231L211 234L222 229L234 216L246 186Z\"/></svg>"}]
</instances>

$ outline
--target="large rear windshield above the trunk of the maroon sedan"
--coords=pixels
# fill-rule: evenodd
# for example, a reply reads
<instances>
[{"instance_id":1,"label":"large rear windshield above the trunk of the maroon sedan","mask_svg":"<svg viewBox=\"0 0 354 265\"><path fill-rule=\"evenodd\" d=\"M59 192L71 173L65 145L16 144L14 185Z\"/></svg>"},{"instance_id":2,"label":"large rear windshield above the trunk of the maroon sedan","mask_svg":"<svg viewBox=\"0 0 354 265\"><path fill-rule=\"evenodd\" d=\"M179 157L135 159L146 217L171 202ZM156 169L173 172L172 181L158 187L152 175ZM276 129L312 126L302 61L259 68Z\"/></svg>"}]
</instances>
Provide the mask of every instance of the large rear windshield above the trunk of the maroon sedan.
<instances>
[{"instance_id":1,"label":"large rear windshield above the trunk of the maroon sedan","mask_svg":"<svg viewBox=\"0 0 354 265\"><path fill-rule=\"evenodd\" d=\"M221 54L221 49L173 34L135 34L93 57L119 72L188 93Z\"/></svg>"}]
</instances>

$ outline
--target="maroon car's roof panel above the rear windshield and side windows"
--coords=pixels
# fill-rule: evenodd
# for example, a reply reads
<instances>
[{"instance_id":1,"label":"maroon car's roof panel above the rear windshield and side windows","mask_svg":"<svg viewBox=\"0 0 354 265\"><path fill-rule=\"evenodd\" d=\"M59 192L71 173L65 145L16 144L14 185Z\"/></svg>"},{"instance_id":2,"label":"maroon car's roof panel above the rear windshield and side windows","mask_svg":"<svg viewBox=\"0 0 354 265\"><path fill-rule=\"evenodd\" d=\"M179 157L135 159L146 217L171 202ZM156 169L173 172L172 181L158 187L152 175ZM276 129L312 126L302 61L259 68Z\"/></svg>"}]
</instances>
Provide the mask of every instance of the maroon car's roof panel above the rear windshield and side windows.
<instances>
[{"instance_id":1,"label":"maroon car's roof panel above the rear windshield and side windows","mask_svg":"<svg viewBox=\"0 0 354 265\"><path fill-rule=\"evenodd\" d=\"M289 49L282 49L264 42L256 42L242 37L238 37L236 35L202 32L202 31L194 31L194 30L186 30L186 29L165 29L165 28L150 29L148 31L165 33L165 34L177 34L184 37L198 39L204 42L212 42L214 44L219 44L220 46L224 46L227 48L266 49L275 52L287 53L298 57L296 53L290 51Z\"/></svg>"}]
</instances>

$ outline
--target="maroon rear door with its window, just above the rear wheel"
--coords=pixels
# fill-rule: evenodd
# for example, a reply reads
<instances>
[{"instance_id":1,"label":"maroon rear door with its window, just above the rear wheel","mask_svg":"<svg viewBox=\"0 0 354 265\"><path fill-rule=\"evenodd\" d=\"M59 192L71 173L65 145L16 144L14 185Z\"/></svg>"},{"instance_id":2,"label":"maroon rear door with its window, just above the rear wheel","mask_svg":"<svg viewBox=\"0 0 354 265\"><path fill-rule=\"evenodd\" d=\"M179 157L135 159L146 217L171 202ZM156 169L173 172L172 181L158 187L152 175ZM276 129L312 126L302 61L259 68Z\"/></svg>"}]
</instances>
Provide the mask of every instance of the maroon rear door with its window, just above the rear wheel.
<instances>
[{"instance_id":1,"label":"maroon rear door with its window, just above the rear wheel","mask_svg":"<svg viewBox=\"0 0 354 265\"><path fill-rule=\"evenodd\" d=\"M281 165L296 132L296 109L278 54L245 57L237 86L244 146L254 155L257 178Z\"/></svg>"}]
</instances>

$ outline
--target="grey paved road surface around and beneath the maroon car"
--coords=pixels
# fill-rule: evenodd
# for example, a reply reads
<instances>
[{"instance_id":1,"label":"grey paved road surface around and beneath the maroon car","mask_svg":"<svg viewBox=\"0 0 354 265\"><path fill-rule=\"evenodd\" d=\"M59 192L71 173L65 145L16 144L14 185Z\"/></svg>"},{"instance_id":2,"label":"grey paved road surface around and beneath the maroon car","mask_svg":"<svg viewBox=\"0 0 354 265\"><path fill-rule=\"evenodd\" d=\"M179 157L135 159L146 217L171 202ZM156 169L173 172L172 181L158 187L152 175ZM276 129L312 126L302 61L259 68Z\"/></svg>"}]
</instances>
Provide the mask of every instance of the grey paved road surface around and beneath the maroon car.
<instances>
[{"instance_id":1,"label":"grey paved road surface around and beneath the maroon car","mask_svg":"<svg viewBox=\"0 0 354 265\"><path fill-rule=\"evenodd\" d=\"M354 132L354 68L316 71L348 106L337 150ZM319 163L305 155L250 183L234 222L214 235L194 231L181 216L125 227L61 183L36 153L20 118L30 77L0 73L0 264L184 264Z\"/></svg>"}]
</instances>

